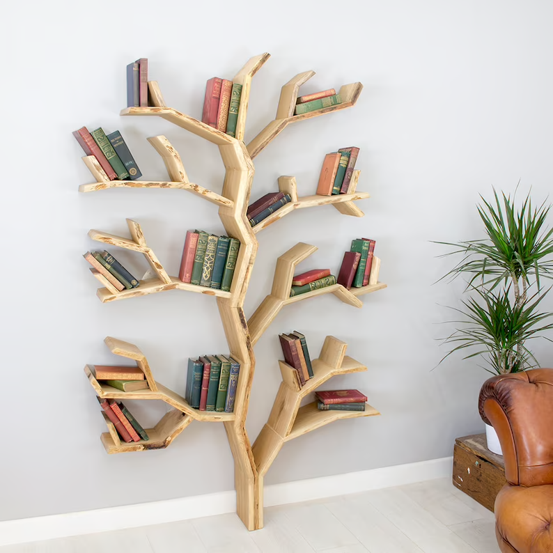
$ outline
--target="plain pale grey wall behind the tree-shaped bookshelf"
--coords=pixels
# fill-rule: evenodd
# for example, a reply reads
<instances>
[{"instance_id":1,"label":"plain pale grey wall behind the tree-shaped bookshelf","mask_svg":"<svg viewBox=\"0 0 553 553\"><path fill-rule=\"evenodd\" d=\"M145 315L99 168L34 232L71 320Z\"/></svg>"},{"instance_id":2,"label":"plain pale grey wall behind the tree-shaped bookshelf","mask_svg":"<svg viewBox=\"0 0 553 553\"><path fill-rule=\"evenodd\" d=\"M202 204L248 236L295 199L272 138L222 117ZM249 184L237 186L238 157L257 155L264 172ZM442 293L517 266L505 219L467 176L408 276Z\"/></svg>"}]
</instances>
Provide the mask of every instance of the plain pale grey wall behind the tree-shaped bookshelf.
<instances>
[{"instance_id":1,"label":"plain pale grey wall behind the tree-shaped bookshelf","mask_svg":"<svg viewBox=\"0 0 553 553\"><path fill-rule=\"evenodd\" d=\"M270 6L270 7L267 7ZM487 374L459 357L433 371L444 350L438 323L461 290L432 283L451 266L430 240L482 235L475 203L491 186L542 201L552 180L553 36L550 3L529 0L350 0L93 3L52 0L3 6L1 152L3 394L0 520L233 489L233 460L220 424L193 423L164 451L107 455L100 410L82 368L116 364L104 336L136 343L155 377L182 392L187 357L226 350L215 301L169 292L112 304L81 258L98 247L87 232L126 233L141 222L171 274L187 228L221 232L216 206L192 194L109 190L91 182L71 132L120 130L145 178L166 178L146 137L165 134L190 178L221 191L217 150L157 118L120 118L125 65L141 56L166 102L201 116L205 81L232 77L250 57L272 58L254 79L247 141L274 116L290 77L313 69L304 91L362 81L355 109L288 127L256 161L252 197L295 175L312 194L325 153L361 148L359 203L366 217L331 206L295 212L259 237L245 311L270 290L276 257L296 242L319 250L304 263L338 267L359 235L377 241L389 288L364 309L332 296L289 306L260 339L247 428L252 441L279 384L276 335L298 329L318 354L327 334L348 341L368 372L334 387L366 391L382 416L336 423L287 444L267 483L450 455L455 437L476 433ZM114 252L115 253L115 252ZM131 272L146 270L117 251ZM538 345L538 344L537 344ZM547 365L550 348L537 348ZM131 402L130 402L131 403ZM148 426L164 405L132 403Z\"/></svg>"}]
</instances>

